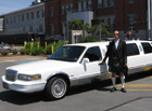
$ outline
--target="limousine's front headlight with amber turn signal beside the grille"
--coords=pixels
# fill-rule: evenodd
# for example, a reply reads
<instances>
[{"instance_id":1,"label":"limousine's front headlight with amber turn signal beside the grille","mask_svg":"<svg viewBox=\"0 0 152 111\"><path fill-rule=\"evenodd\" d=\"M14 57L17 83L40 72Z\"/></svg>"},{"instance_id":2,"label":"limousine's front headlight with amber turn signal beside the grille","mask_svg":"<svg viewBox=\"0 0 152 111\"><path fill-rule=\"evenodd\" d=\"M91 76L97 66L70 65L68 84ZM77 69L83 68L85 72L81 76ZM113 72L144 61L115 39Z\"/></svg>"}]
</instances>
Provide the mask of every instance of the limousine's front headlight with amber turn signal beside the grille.
<instances>
[{"instance_id":1,"label":"limousine's front headlight with amber turn signal beside the grille","mask_svg":"<svg viewBox=\"0 0 152 111\"><path fill-rule=\"evenodd\" d=\"M34 75L27 75L27 74L18 74L18 80L23 81L33 81L33 80L39 80L41 79L41 74L34 74Z\"/></svg>"}]
</instances>

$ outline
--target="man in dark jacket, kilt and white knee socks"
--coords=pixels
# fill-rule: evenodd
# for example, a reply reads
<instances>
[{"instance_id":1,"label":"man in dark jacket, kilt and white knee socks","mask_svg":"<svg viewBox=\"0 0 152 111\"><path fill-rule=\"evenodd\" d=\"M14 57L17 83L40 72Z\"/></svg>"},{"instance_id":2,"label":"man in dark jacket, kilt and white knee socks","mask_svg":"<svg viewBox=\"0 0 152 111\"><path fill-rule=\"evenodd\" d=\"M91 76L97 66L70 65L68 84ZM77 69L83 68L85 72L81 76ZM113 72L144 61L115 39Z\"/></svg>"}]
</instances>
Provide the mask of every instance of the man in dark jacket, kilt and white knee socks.
<instances>
[{"instance_id":1,"label":"man in dark jacket, kilt and white knee socks","mask_svg":"<svg viewBox=\"0 0 152 111\"><path fill-rule=\"evenodd\" d=\"M100 65L103 65L109 57L109 70L112 72L112 83L113 88L111 89L111 93L116 91L115 86L115 75L118 74L121 77L122 81L122 92L127 93L125 89L125 67L127 67L127 56L126 56L126 42L119 40L119 32L118 30L114 31L114 40L110 42L110 45L107 47L107 52L105 54L105 57L103 61L100 63Z\"/></svg>"}]
</instances>

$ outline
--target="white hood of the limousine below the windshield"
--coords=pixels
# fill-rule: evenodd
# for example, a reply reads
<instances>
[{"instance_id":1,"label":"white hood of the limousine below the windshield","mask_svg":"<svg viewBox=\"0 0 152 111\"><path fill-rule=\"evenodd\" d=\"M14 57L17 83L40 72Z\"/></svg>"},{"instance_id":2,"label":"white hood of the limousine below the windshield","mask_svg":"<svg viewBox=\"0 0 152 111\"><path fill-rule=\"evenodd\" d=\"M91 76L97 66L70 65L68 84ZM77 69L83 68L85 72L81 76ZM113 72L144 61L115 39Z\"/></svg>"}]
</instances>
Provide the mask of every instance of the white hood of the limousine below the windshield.
<instances>
[{"instance_id":1,"label":"white hood of the limousine below the windshield","mask_svg":"<svg viewBox=\"0 0 152 111\"><path fill-rule=\"evenodd\" d=\"M61 70L73 66L74 63L45 59L45 60L31 61L27 64L15 65L7 69L16 70L18 73L36 74L36 73L43 73L48 71L56 71L59 69Z\"/></svg>"}]
</instances>

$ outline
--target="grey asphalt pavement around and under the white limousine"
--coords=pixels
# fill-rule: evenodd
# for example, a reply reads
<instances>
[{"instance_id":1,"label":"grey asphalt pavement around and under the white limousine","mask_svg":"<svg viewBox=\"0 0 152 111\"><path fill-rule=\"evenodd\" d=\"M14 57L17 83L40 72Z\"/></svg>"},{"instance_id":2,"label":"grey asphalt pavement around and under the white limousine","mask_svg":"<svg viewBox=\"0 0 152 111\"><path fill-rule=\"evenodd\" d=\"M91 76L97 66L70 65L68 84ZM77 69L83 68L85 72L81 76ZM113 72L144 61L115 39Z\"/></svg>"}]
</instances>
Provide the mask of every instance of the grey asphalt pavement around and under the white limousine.
<instances>
[{"instance_id":1,"label":"grey asphalt pavement around and under the white limousine","mask_svg":"<svg viewBox=\"0 0 152 111\"><path fill-rule=\"evenodd\" d=\"M24 57L22 57L24 58ZM37 60L42 57L8 58L0 63L0 77L4 68ZM5 59L5 58L3 58ZM12 59L12 61L9 61ZM0 80L1 84L1 80ZM69 89L61 100L48 100L42 93L18 94L7 91L0 85L0 111L151 111L152 109L152 71L136 73L127 78L128 93L110 93L111 81L102 81ZM117 88L121 89L119 79Z\"/></svg>"}]
</instances>

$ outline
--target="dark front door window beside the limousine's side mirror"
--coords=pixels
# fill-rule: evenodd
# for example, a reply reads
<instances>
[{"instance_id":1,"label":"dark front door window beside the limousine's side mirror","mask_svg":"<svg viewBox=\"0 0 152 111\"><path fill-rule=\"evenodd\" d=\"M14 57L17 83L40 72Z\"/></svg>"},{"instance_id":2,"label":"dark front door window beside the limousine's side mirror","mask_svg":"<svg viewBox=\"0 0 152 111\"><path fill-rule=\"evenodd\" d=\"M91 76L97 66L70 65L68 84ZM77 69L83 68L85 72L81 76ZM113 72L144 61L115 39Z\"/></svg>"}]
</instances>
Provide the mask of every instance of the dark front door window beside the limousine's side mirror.
<instances>
[{"instance_id":1,"label":"dark front door window beside the limousine's side mirror","mask_svg":"<svg viewBox=\"0 0 152 111\"><path fill-rule=\"evenodd\" d=\"M101 52L98 46L90 47L85 54L86 58L89 58L90 61L101 60Z\"/></svg>"}]
</instances>

